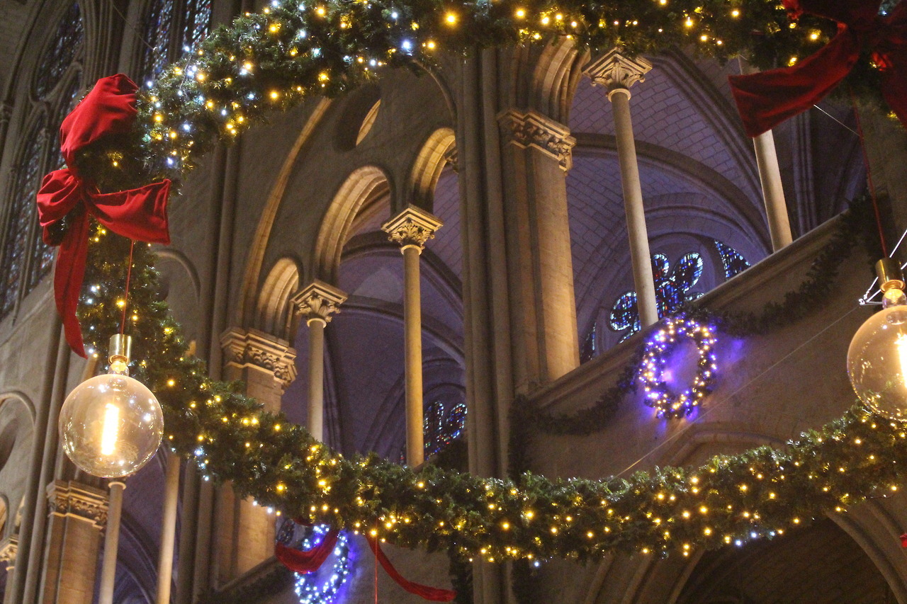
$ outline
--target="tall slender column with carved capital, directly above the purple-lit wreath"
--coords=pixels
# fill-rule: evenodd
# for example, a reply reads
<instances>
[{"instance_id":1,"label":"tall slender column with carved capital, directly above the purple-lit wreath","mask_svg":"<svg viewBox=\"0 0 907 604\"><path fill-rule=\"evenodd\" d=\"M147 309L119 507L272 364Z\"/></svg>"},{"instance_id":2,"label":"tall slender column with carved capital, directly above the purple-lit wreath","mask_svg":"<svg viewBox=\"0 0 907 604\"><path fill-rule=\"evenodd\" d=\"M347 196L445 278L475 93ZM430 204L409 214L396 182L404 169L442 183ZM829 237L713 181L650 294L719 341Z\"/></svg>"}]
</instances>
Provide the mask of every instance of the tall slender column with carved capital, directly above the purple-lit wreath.
<instances>
[{"instance_id":1,"label":"tall slender column with carved capital, directly above the purple-lit wreath","mask_svg":"<svg viewBox=\"0 0 907 604\"><path fill-rule=\"evenodd\" d=\"M633 122L629 114L629 88L634 83L644 82L643 76L651 68L652 63L641 56L630 59L615 48L587 65L584 70L593 84L608 89L608 99L614 115L620 184L623 189L624 210L627 213L629 254L633 263L633 284L636 287L639 321L643 327L658 321L658 304L655 298L655 279L652 277L646 212L642 205L642 188L639 185L636 141L633 140Z\"/></svg>"}]
</instances>

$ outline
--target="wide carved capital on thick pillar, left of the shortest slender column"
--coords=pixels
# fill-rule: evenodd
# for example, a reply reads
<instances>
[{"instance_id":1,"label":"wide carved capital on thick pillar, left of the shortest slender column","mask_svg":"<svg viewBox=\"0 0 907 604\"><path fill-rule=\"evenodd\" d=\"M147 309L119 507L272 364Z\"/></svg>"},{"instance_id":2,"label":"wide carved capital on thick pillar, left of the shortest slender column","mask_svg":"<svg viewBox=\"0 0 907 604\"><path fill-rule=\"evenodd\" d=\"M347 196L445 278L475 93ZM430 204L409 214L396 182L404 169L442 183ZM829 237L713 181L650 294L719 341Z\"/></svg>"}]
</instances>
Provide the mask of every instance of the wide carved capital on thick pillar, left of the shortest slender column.
<instances>
[{"instance_id":1,"label":"wide carved capital on thick pillar, left of the shortest slender column","mask_svg":"<svg viewBox=\"0 0 907 604\"><path fill-rule=\"evenodd\" d=\"M232 327L220 336L220 346L229 365L268 371L284 388L296 378L296 350L287 340L258 329Z\"/></svg>"}]
</instances>

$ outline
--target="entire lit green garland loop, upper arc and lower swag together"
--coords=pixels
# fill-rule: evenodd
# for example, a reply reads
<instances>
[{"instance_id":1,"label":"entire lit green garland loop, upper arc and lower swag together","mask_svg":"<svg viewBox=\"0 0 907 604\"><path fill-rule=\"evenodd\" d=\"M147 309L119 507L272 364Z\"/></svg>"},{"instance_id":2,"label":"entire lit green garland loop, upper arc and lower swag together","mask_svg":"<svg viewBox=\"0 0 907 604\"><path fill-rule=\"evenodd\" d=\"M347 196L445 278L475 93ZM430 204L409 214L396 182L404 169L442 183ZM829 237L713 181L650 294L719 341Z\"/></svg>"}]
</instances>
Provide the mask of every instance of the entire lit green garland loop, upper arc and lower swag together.
<instances>
[{"instance_id":1,"label":"entire lit green garland loop, upper arc and lower swag together","mask_svg":"<svg viewBox=\"0 0 907 604\"><path fill-rule=\"evenodd\" d=\"M220 28L195 54L141 93L128 134L75 159L102 190L162 177L179 180L214 141L230 140L267 112L313 94L336 94L389 66L431 63L442 50L569 35L628 53L693 44L727 59L770 66L813 52L834 24L802 19L765 0L472 4L275 2ZM876 99L878 73L863 58L849 76ZM93 225L80 317L104 356L117 329L129 242ZM480 478L427 465L421 472L373 456L346 458L282 414L268 414L241 385L214 382L188 354L158 297L154 256L135 250L130 292L134 375L158 395L167 442L206 478L231 481L294 517L463 560L588 559L615 550L680 552L771 537L866 497L896 490L907 468L907 433L860 407L785 450L762 447L707 465L638 472L628 480ZM366 529L367 527L367 529Z\"/></svg>"}]
</instances>

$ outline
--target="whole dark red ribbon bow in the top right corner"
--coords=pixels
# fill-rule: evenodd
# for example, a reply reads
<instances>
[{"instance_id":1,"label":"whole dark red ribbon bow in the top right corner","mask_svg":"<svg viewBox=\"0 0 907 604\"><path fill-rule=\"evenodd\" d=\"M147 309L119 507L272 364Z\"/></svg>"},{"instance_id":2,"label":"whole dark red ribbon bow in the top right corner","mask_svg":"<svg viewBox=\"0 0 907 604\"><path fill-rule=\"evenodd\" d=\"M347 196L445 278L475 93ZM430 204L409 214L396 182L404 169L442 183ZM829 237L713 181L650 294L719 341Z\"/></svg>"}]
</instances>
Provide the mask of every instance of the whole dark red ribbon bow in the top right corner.
<instances>
[{"instance_id":1,"label":"whole dark red ribbon bow in the top right corner","mask_svg":"<svg viewBox=\"0 0 907 604\"><path fill-rule=\"evenodd\" d=\"M907 2L879 15L880 0L784 0L794 17L838 22L828 44L790 67L729 76L746 134L758 136L821 101L844 80L863 48L882 72L885 101L907 126Z\"/></svg>"}]
</instances>

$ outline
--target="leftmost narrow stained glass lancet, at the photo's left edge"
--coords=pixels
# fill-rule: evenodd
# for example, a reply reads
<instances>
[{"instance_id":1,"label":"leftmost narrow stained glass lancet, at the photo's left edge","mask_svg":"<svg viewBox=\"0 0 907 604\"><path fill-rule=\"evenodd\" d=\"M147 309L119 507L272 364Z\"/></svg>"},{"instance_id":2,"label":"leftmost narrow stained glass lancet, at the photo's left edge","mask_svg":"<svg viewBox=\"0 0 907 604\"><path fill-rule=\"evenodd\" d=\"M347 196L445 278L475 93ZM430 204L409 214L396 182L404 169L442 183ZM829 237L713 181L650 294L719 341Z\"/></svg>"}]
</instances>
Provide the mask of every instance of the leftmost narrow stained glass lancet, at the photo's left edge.
<instances>
[{"instance_id":1,"label":"leftmost narrow stained glass lancet, at the photo's left edge","mask_svg":"<svg viewBox=\"0 0 907 604\"><path fill-rule=\"evenodd\" d=\"M19 296L19 283L25 264L28 231L35 220L34 196L37 192L42 155L44 153L43 121L34 122L24 137L24 149L16 163L10 198L10 215L6 223L3 260L0 262L0 283L3 284L0 315L7 315Z\"/></svg>"}]
</instances>

